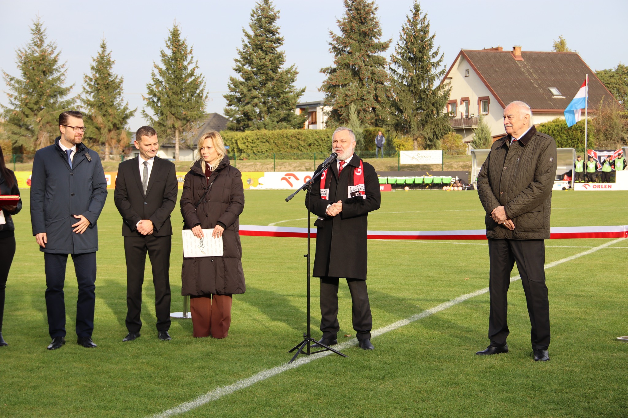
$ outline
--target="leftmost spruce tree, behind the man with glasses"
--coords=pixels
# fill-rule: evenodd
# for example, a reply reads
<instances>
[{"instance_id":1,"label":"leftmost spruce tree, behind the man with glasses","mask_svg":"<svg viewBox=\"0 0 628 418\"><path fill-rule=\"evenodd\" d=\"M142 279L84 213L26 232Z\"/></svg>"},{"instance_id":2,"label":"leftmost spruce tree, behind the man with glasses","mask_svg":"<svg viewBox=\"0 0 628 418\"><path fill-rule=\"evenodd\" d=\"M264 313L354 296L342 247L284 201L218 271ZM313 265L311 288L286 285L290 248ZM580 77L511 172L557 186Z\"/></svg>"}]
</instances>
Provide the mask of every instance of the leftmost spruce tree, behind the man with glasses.
<instances>
[{"instance_id":1,"label":"leftmost spruce tree, behind the man with glasses","mask_svg":"<svg viewBox=\"0 0 628 418\"><path fill-rule=\"evenodd\" d=\"M31 41L16 54L20 76L3 71L9 99L8 106L1 105L3 135L17 153L50 145L59 135L59 113L75 101L67 98L73 85L63 86L67 69L59 62L57 44L46 41L41 18L33 21L30 31Z\"/></svg>"}]
</instances>

